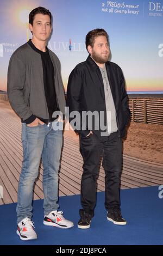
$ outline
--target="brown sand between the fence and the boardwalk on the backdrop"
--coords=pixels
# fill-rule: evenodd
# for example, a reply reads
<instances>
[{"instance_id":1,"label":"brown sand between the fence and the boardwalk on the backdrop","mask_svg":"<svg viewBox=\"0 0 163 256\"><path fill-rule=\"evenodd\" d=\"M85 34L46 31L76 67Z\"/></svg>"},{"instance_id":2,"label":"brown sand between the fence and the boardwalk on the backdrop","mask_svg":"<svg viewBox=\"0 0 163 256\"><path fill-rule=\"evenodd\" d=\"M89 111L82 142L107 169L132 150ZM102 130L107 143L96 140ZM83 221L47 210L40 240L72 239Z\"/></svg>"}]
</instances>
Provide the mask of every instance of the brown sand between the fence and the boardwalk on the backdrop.
<instances>
[{"instance_id":1,"label":"brown sand between the fence and the boardwalk on the backdrop","mask_svg":"<svg viewBox=\"0 0 163 256\"><path fill-rule=\"evenodd\" d=\"M65 131L78 138L74 131ZM163 125L130 123L123 139L123 154L156 163L163 163Z\"/></svg>"}]
</instances>

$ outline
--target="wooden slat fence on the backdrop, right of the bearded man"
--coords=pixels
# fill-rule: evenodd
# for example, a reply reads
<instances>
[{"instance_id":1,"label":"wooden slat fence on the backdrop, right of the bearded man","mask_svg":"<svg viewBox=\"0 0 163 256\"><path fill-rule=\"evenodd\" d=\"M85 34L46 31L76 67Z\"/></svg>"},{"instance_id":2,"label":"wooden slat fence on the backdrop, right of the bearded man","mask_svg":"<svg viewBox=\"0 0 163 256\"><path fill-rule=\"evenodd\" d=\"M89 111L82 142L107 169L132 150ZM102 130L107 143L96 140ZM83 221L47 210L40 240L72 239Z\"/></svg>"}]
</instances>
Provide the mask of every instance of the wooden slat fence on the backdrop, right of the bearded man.
<instances>
[{"instance_id":1,"label":"wooden slat fence on the backdrop, right of the bearded man","mask_svg":"<svg viewBox=\"0 0 163 256\"><path fill-rule=\"evenodd\" d=\"M163 124L163 99L129 99L130 120L145 124Z\"/></svg>"}]
</instances>

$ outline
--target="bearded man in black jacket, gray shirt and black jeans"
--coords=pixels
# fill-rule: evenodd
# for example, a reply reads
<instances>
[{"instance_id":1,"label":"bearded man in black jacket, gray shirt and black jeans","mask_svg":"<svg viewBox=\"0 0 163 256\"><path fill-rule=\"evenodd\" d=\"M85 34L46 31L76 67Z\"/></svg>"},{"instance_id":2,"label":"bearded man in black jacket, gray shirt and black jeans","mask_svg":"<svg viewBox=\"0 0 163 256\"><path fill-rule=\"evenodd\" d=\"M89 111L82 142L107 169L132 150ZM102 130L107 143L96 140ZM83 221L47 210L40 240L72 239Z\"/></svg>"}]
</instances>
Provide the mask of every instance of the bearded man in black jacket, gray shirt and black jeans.
<instances>
[{"instance_id":1,"label":"bearded man in black jacket, gray shirt and black jeans","mask_svg":"<svg viewBox=\"0 0 163 256\"><path fill-rule=\"evenodd\" d=\"M80 153L84 161L81 182L83 209L79 210L78 228L90 228L101 156L105 170L106 217L114 224L125 225L127 222L120 210L121 139L126 133L130 114L125 81L120 66L108 61L109 39L104 29L90 31L85 42L89 57L73 69L67 87L70 116L73 111L80 115L76 122L70 118L70 124L79 133Z\"/></svg>"}]
</instances>

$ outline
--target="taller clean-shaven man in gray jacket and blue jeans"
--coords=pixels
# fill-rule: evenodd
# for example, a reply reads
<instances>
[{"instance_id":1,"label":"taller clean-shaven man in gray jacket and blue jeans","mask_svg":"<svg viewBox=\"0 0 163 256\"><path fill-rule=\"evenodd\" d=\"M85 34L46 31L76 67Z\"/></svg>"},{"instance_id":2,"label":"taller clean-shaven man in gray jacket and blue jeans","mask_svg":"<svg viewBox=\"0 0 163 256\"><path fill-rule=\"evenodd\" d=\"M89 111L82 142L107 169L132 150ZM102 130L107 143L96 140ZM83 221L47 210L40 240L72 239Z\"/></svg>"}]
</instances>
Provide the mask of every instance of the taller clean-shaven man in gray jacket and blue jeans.
<instances>
[{"instance_id":1,"label":"taller clean-shaven man in gray jacket and blue jeans","mask_svg":"<svg viewBox=\"0 0 163 256\"><path fill-rule=\"evenodd\" d=\"M34 181L43 163L43 224L71 228L57 211L58 169L62 147L65 95L60 62L46 44L52 31L51 13L38 7L29 14L32 40L11 56L8 68L8 97L22 121L23 163L18 183L17 234L22 240L36 239L32 218Z\"/></svg>"}]
</instances>

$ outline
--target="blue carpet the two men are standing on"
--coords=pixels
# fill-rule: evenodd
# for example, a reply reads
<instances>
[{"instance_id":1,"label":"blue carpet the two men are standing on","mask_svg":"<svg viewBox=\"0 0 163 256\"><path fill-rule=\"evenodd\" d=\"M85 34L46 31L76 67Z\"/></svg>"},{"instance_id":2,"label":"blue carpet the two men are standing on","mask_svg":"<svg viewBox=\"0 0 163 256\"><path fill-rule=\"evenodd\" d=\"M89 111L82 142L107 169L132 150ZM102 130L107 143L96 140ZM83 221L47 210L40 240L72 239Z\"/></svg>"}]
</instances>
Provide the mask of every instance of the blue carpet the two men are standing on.
<instances>
[{"instance_id":1,"label":"blue carpet the two men are standing on","mask_svg":"<svg viewBox=\"0 0 163 256\"><path fill-rule=\"evenodd\" d=\"M74 222L71 229L43 225L43 200L35 200L33 221L38 239L31 241L21 241L16 234L16 204L1 205L0 245L162 245L163 199L158 193L158 186L122 190L121 210L127 225L120 226L106 220L104 192L98 192L95 217L85 230L77 227L78 195L59 198L59 210Z\"/></svg>"}]
</instances>

